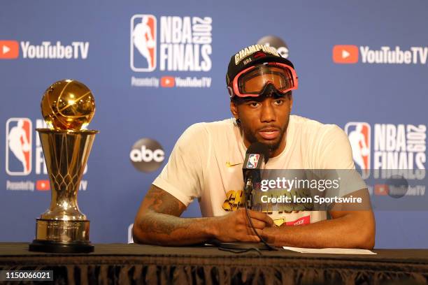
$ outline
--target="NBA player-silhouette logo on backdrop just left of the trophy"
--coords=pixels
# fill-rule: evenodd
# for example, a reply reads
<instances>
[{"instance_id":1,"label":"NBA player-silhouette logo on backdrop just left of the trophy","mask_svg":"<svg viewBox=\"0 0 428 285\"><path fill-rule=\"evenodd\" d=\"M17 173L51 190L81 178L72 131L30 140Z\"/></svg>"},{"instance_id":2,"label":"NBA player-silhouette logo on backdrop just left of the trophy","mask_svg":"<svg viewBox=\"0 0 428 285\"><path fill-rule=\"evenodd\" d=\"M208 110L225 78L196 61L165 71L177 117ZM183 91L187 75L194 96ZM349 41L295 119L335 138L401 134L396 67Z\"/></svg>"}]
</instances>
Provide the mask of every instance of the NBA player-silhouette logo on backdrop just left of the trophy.
<instances>
[{"instance_id":1,"label":"NBA player-silhouette logo on backdrop just left of the trophy","mask_svg":"<svg viewBox=\"0 0 428 285\"><path fill-rule=\"evenodd\" d=\"M6 173L31 173L32 124L28 118L10 118L6 121Z\"/></svg>"}]
</instances>

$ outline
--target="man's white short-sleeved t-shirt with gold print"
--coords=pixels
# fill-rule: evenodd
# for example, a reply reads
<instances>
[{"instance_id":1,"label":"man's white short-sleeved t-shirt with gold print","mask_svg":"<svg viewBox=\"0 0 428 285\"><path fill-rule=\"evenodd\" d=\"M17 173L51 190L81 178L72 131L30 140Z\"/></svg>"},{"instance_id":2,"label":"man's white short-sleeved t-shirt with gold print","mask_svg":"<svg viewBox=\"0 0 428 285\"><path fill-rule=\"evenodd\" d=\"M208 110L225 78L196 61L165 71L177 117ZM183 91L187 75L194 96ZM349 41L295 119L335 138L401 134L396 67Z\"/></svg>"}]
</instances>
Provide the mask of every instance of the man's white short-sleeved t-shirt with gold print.
<instances>
[{"instance_id":1,"label":"man's white short-sleeved t-shirt with gold print","mask_svg":"<svg viewBox=\"0 0 428 285\"><path fill-rule=\"evenodd\" d=\"M348 136L334 124L290 115L285 137L285 149L269 159L266 169L355 168ZM180 136L153 184L186 206L198 198L204 217L222 216L228 213L222 207L227 193L243 189L246 150L234 119L194 124ZM271 217L278 225L299 225L327 219L327 212L273 212Z\"/></svg>"}]
</instances>

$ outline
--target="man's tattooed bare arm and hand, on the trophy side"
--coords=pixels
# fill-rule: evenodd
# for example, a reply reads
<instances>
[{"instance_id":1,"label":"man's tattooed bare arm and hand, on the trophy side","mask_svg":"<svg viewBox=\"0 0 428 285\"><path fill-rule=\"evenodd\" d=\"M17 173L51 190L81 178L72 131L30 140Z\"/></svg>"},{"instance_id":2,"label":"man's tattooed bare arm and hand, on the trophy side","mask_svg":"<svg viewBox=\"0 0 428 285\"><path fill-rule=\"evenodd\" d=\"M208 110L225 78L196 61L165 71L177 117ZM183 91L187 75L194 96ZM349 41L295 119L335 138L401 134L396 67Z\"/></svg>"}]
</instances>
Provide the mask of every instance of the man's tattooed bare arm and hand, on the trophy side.
<instances>
[{"instance_id":1,"label":"man's tattooed bare arm and hand, on the trophy side","mask_svg":"<svg viewBox=\"0 0 428 285\"><path fill-rule=\"evenodd\" d=\"M248 222L245 209L222 217L180 218L186 206L170 193L152 185L134 221L134 242L160 245L187 245L213 238L222 242L259 242ZM265 213L248 210L257 233L273 225Z\"/></svg>"}]
</instances>

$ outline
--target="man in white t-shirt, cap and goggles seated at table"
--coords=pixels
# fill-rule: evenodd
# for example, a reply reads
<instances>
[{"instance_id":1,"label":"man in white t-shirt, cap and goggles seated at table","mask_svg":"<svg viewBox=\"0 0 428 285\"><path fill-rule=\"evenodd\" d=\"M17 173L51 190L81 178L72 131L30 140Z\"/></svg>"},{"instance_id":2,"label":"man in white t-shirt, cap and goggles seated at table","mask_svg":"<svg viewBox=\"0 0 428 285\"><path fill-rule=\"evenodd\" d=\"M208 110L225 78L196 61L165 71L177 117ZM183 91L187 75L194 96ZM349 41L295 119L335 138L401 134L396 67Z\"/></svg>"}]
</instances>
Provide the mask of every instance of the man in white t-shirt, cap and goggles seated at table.
<instances>
[{"instance_id":1,"label":"man in white t-shirt, cap and goggles seated at table","mask_svg":"<svg viewBox=\"0 0 428 285\"><path fill-rule=\"evenodd\" d=\"M269 148L266 169L352 171L352 150L338 126L290 115L297 75L273 47L252 45L235 54L226 80L234 119L194 124L180 136L141 203L134 241L184 245L258 242L261 236L276 246L373 248L375 221L359 177L342 196L362 198L365 208L343 210L336 203L328 210L331 219L325 210L250 210L255 233L239 207L243 161L253 142ZM180 218L194 198L203 217Z\"/></svg>"}]
</instances>

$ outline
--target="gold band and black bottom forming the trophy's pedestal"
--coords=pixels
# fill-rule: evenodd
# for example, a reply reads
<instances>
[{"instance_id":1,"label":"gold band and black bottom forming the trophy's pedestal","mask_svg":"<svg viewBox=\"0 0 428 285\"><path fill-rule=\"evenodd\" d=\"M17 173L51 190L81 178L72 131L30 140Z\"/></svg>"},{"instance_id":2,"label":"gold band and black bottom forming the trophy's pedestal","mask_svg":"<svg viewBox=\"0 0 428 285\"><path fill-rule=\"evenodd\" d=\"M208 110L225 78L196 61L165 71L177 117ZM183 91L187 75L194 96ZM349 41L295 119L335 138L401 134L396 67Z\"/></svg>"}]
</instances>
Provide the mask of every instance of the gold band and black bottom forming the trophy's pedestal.
<instances>
[{"instance_id":1,"label":"gold band and black bottom forming the trophy's pedestal","mask_svg":"<svg viewBox=\"0 0 428 285\"><path fill-rule=\"evenodd\" d=\"M89 241L90 221L37 219L36 240L29 251L78 254L94 251Z\"/></svg>"}]
</instances>

